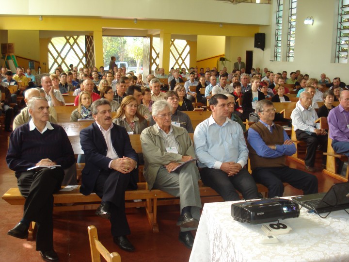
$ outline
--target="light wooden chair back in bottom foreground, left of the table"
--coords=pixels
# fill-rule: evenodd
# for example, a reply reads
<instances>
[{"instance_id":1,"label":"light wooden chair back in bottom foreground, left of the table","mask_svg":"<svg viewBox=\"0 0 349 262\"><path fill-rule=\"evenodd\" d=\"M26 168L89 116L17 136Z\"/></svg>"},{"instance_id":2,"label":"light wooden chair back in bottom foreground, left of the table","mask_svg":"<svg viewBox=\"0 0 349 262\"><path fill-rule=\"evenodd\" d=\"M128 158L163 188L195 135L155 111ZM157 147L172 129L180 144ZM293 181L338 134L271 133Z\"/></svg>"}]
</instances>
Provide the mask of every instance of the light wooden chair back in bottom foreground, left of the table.
<instances>
[{"instance_id":1,"label":"light wooden chair back in bottom foreground, left of the table","mask_svg":"<svg viewBox=\"0 0 349 262\"><path fill-rule=\"evenodd\" d=\"M90 247L91 247L91 259L92 262L100 262L100 255L107 262L121 262L121 257L119 253L112 252L110 253L107 248L105 248L102 243L98 240L97 229L95 226L89 226L87 228L90 239Z\"/></svg>"}]
</instances>

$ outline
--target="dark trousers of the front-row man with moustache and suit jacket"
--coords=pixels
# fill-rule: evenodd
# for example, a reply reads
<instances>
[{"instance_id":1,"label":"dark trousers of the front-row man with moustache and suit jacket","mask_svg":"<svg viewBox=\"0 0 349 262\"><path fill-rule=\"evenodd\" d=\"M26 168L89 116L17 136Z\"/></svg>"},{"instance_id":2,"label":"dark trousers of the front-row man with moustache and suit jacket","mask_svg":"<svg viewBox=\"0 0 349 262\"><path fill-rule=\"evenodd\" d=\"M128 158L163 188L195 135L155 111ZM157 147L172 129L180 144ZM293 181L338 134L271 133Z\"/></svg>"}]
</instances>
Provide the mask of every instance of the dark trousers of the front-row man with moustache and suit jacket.
<instances>
[{"instance_id":1,"label":"dark trousers of the front-row man with moustache and suit jacket","mask_svg":"<svg viewBox=\"0 0 349 262\"><path fill-rule=\"evenodd\" d=\"M138 172L138 170L136 169ZM131 172L132 173L132 172ZM111 212L111 235L113 237L125 236L131 233L125 213L125 191L127 190L130 176L116 170L102 171L95 183L94 192L102 201L109 201Z\"/></svg>"}]
</instances>

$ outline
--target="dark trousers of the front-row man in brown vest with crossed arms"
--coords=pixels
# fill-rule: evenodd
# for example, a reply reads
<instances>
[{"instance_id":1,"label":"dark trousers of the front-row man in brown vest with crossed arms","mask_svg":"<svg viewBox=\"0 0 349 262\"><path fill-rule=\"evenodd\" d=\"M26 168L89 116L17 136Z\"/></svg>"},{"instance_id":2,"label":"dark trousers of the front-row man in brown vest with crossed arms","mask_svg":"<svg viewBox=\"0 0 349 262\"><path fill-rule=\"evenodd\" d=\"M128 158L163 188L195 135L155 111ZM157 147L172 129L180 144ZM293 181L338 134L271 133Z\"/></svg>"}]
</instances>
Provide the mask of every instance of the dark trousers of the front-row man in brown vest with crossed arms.
<instances>
[{"instance_id":1,"label":"dark trousers of the front-row man in brown vest with crossed arms","mask_svg":"<svg viewBox=\"0 0 349 262\"><path fill-rule=\"evenodd\" d=\"M252 171L257 183L268 187L268 197L282 197L283 182L303 190L304 195L317 193L317 177L304 171L285 167L257 167Z\"/></svg>"}]
</instances>

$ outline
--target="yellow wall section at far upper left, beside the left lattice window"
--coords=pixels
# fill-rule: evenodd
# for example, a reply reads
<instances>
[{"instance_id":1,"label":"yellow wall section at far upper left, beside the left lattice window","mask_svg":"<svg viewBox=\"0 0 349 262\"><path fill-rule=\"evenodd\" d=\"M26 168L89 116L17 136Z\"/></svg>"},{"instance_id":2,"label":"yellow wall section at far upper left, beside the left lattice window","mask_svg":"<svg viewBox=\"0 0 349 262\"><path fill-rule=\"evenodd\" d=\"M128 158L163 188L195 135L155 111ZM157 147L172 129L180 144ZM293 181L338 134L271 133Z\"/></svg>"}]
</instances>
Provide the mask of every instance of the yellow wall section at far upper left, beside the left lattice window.
<instances>
[{"instance_id":1,"label":"yellow wall section at far upper left, beside the left lattice window","mask_svg":"<svg viewBox=\"0 0 349 262\"><path fill-rule=\"evenodd\" d=\"M16 55L33 60L40 59L38 30L9 30L8 43L15 44ZM23 66L26 67L28 65Z\"/></svg>"}]
</instances>

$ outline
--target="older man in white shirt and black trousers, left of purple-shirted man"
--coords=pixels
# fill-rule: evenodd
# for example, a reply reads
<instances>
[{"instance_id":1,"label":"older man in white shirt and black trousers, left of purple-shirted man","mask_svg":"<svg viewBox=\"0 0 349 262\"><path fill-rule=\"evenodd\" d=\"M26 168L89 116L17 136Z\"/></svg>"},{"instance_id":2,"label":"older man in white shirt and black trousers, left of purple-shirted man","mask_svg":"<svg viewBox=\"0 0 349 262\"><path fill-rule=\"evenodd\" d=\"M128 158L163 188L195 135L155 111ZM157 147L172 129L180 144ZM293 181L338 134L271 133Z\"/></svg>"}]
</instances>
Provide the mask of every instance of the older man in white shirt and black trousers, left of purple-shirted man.
<instances>
[{"instance_id":1,"label":"older man in white shirt and black trousers, left of purple-shirted man","mask_svg":"<svg viewBox=\"0 0 349 262\"><path fill-rule=\"evenodd\" d=\"M318 117L315 109L311 106L312 100L313 97L309 92L302 92L300 100L291 114L297 140L303 140L307 144L304 162L305 169L309 172L316 171L314 164L317 146L320 145L322 151L327 151L327 134L324 129L319 128L319 123L315 123ZM322 157L322 164L326 165L326 156Z\"/></svg>"}]
</instances>

